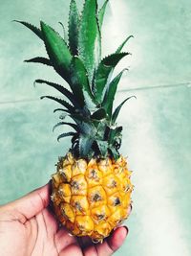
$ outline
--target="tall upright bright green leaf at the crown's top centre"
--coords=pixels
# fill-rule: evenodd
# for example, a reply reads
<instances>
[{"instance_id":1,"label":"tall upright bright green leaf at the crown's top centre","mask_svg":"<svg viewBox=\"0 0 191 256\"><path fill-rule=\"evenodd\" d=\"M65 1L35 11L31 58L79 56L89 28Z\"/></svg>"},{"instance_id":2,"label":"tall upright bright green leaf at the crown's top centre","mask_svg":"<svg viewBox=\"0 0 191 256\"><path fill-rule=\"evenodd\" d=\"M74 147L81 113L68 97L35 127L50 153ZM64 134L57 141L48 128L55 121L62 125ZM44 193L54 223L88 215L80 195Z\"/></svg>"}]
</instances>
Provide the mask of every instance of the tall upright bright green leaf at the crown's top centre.
<instances>
[{"instance_id":1,"label":"tall upright bright green leaf at the crown's top centre","mask_svg":"<svg viewBox=\"0 0 191 256\"><path fill-rule=\"evenodd\" d=\"M79 25L78 53L83 60L92 83L101 57L101 39L96 18L96 0L86 0Z\"/></svg>"}]
</instances>

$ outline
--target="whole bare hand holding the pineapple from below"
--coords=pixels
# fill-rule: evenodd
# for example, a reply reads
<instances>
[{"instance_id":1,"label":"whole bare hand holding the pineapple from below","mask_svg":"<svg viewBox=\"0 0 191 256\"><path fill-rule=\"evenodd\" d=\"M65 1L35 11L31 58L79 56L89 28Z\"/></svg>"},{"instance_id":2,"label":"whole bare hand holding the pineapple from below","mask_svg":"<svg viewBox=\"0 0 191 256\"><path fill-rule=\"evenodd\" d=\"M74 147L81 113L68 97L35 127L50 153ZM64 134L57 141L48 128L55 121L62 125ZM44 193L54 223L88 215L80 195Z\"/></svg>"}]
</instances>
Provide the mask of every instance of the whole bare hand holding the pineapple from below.
<instances>
[{"instance_id":1,"label":"whole bare hand holding the pineapple from below","mask_svg":"<svg viewBox=\"0 0 191 256\"><path fill-rule=\"evenodd\" d=\"M109 256L123 244L125 226L117 227L103 244L71 236L49 210L49 191L47 184L0 207L1 256Z\"/></svg>"}]
</instances>

